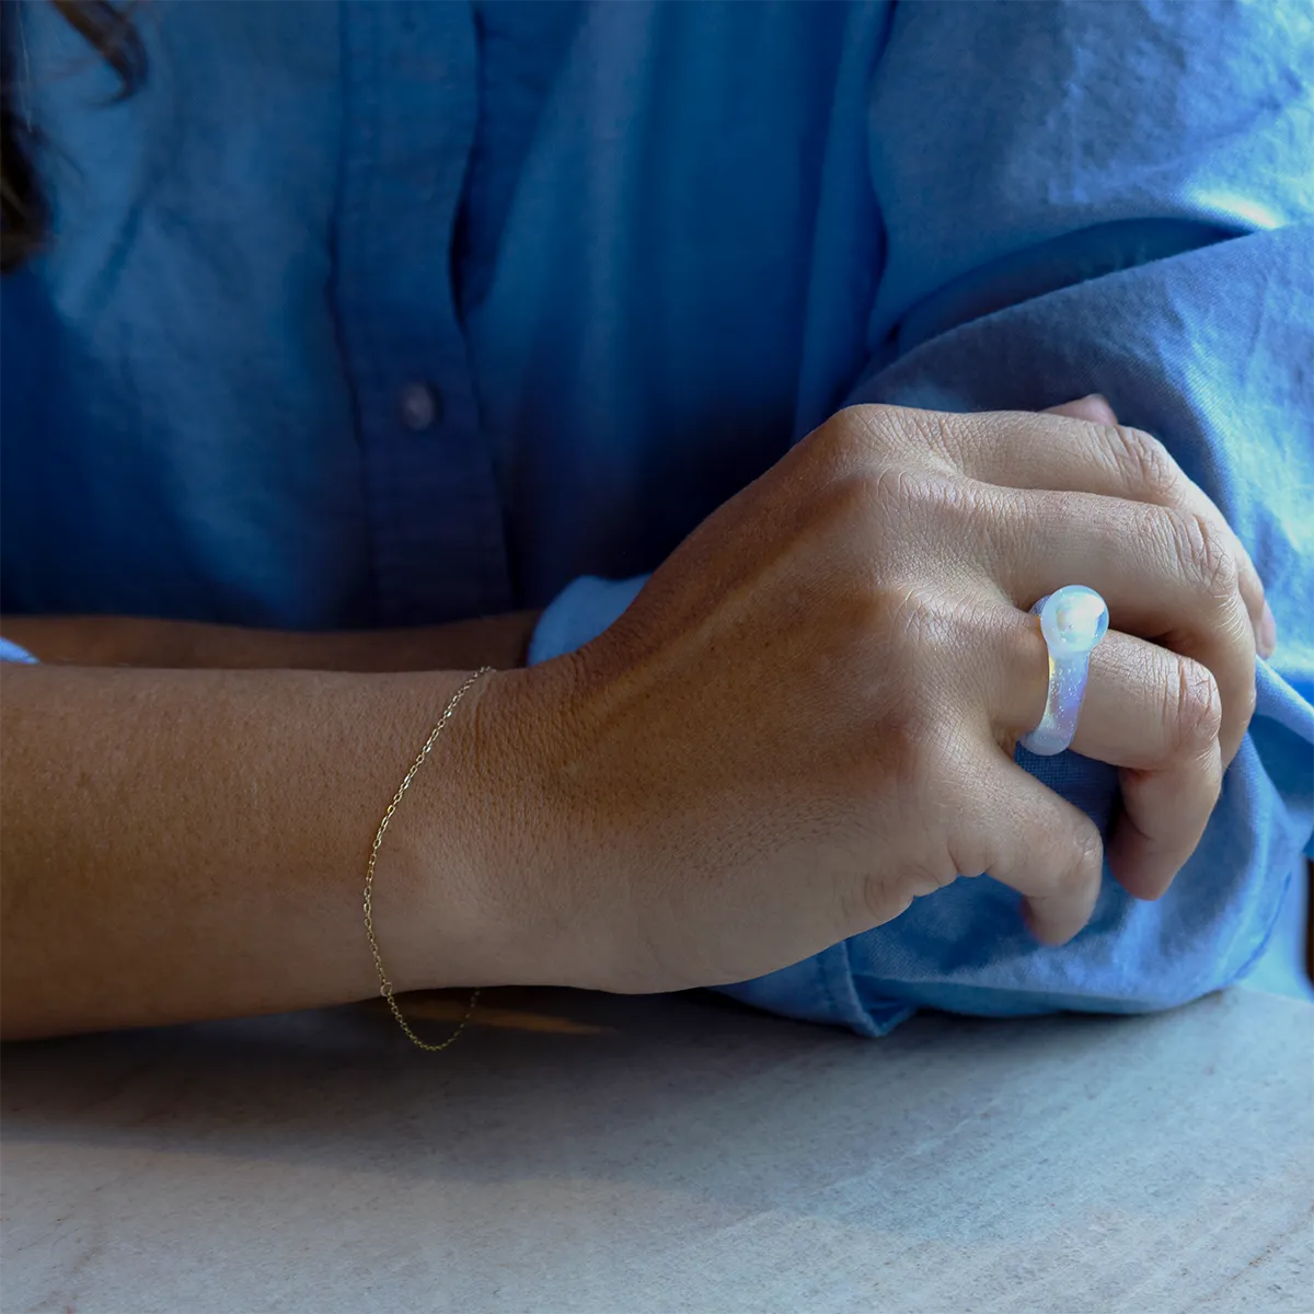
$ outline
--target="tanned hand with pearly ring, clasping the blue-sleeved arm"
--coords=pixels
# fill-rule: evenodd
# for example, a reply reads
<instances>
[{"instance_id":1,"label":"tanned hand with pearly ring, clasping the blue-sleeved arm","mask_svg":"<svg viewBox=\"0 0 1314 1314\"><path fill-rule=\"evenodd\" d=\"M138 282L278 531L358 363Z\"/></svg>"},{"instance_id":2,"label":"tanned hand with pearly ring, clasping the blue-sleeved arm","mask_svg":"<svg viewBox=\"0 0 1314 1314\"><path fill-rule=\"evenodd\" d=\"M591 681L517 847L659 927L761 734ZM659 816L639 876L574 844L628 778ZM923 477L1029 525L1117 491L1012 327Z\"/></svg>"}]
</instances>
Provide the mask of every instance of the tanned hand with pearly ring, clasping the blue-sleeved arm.
<instances>
[{"instance_id":1,"label":"tanned hand with pearly ring, clasping the blue-sleeved arm","mask_svg":"<svg viewBox=\"0 0 1314 1314\"><path fill-rule=\"evenodd\" d=\"M1121 769L1109 863L1160 895L1254 708L1263 590L1222 516L1134 430L854 407L600 639L506 677L555 819L518 887L540 979L754 976L959 874L1020 891L1042 940L1074 936L1101 837L1013 762L1047 686L1026 612L1066 583L1097 589L1114 627L1074 748Z\"/></svg>"}]
</instances>

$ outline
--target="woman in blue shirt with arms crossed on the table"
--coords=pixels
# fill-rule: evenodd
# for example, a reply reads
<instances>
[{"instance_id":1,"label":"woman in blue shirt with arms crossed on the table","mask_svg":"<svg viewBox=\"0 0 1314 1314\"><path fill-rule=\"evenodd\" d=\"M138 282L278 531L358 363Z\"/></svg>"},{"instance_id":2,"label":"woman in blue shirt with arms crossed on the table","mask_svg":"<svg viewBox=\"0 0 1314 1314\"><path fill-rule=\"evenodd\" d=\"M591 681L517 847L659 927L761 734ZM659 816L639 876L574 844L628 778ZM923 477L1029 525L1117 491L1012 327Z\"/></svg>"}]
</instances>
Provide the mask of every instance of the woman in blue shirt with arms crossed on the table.
<instances>
[{"instance_id":1,"label":"woman in blue shirt with arms crossed on the table","mask_svg":"<svg viewBox=\"0 0 1314 1314\"><path fill-rule=\"evenodd\" d=\"M1314 32L1183 8L11 7L0 1033L371 993L461 690L398 989L1243 972L1314 829Z\"/></svg>"}]
</instances>

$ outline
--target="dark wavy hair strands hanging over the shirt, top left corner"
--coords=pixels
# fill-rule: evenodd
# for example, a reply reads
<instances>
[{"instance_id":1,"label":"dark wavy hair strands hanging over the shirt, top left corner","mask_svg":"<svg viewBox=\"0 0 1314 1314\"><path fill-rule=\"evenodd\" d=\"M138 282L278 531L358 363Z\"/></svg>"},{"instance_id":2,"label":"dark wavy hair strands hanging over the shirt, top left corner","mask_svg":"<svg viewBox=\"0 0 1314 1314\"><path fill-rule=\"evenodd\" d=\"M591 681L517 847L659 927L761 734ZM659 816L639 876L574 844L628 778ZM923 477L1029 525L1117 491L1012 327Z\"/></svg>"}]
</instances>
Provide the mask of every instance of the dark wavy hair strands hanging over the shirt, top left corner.
<instances>
[{"instance_id":1,"label":"dark wavy hair strands hanging over the shirt, top left corner","mask_svg":"<svg viewBox=\"0 0 1314 1314\"><path fill-rule=\"evenodd\" d=\"M130 96L146 76L146 49L133 25L138 0L47 0L64 21L113 68L118 96ZM0 39L0 273L16 269L41 250L50 222L46 197L33 160L37 146L18 105L21 21L17 4L8 9L8 30Z\"/></svg>"}]
</instances>

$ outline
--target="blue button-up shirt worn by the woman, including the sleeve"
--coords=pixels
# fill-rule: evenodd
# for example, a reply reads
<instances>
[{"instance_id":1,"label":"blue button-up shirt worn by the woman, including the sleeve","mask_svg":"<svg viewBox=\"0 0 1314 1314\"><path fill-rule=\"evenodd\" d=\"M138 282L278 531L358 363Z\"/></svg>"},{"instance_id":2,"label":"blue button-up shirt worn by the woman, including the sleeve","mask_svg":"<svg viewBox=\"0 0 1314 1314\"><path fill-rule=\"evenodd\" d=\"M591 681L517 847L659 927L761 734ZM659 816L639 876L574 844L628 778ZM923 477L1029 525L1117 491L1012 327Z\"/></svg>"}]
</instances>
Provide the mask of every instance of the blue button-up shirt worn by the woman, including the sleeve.
<instances>
[{"instance_id":1,"label":"blue button-up shirt worn by the woman, including the sleeve","mask_svg":"<svg viewBox=\"0 0 1314 1314\"><path fill-rule=\"evenodd\" d=\"M736 992L876 1033L1254 962L1314 830L1307 0L155 5L120 104L22 14L57 239L0 283L0 610L551 603L541 658L848 401L1099 389L1280 625L1198 854L1063 949L959 882ZM1029 765L1108 817L1110 771Z\"/></svg>"}]
</instances>

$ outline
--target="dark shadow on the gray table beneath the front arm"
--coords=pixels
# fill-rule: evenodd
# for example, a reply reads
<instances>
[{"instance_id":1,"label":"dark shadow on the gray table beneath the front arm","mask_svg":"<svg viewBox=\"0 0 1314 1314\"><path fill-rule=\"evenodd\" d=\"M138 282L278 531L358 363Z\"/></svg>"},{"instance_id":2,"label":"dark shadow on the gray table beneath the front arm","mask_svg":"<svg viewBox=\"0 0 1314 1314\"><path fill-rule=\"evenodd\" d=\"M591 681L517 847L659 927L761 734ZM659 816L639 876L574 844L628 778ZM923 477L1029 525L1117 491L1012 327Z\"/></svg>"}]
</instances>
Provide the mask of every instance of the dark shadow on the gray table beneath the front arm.
<instances>
[{"instance_id":1,"label":"dark shadow on the gray table beneath the front arm","mask_svg":"<svg viewBox=\"0 0 1314 1314\"><path fill-rule=\"evenodd\" d=\"M807 1194L837 1164L929 1162L991 1118L1043 1117L1035 1077L1056 1058L1130 1034L1152 1043L1163 1025L922 1017L872 1042L714 995L486 1000L442 1055L414 1050L376 1005L11 1046L0 1156L16 1142L109 1143L402 1179L641 1175L717 1197L759 1197L769 1173Z\"/></svg>"}]
</instances>

